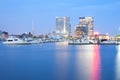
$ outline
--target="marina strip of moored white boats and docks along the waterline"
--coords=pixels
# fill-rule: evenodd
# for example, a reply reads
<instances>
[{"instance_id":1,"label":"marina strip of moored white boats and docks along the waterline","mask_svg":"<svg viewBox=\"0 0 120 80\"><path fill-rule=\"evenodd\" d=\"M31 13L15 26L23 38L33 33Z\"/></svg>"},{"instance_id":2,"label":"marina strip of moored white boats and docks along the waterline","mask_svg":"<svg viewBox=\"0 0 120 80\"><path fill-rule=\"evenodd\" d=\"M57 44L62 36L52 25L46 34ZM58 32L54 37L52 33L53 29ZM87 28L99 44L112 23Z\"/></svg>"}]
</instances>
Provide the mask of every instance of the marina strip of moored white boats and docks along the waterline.
<instances>
[{"instance_id":1,"label":"marina strip of moored white boats and docks along the waterline","mask_svg":"<svg viewBox=\"0 0 120 80\"><path fill-rule=\"evenodd\" d=\"M33 39L33 38L25 38L20 39L15 36L8 37L5 41L2 42L5 45L27 45L27 44L44 44L44 43L57 43L57 44L66 44L66 45L119 45L119 41L94 41L94 40L42 40L42 39Z\"/></svg>"}]
</instances>

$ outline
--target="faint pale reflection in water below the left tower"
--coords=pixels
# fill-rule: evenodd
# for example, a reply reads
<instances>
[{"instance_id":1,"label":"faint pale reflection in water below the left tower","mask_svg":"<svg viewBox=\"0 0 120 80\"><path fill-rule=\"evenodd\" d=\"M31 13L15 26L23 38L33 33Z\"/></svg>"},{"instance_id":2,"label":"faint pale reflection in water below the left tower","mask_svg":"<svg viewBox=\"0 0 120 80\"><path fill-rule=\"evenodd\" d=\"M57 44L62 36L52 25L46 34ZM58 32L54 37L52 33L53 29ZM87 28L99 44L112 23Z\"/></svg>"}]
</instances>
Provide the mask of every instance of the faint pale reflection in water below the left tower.
<instances>
[{"instance_id":1,"label":"faint pale reflection in water below the left tower","mask_svg":"<svg viewBox=\"0 0 120 80\"><path fill-rule=\"evenodd\" d=\"M56 44L55 58L55 80L68 80L68 46Z\"/></svg>"}]
</instances>

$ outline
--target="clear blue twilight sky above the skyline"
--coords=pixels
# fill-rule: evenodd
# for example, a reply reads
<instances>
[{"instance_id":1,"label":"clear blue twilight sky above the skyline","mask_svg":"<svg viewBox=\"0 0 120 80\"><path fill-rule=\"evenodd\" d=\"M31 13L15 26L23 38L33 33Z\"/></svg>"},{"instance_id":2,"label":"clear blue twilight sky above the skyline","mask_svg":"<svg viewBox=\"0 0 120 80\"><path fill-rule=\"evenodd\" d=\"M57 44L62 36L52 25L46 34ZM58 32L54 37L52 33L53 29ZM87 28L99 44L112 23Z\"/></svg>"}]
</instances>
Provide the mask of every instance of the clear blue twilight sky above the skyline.
<instances>
[{"instance_id":1,"label":"clear blue twilight sky above the skyline","mask_svg":"<svg viewBox=\"0 0 120 80\"><path fill-rule=\"evenodd\" d=\"M0 0L0 30L9 34L55 31L55 18L68 16L72 31L79 17L94 17L94 29L100 33L120 33L120 0Z\"/></svg>"}]
</instances>

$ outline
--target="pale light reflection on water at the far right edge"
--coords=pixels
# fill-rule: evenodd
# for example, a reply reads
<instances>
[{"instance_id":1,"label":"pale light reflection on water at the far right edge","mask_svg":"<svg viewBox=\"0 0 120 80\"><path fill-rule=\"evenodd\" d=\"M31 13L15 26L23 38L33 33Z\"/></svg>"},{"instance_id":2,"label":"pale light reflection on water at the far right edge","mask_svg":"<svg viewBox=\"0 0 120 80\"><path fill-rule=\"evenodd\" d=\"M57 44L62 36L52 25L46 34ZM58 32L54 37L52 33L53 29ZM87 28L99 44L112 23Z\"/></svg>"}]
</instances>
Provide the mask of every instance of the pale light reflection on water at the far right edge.
<instances>
[{"instance_id":1,"label":"pale light reflection on water at the far right edge","mask_svg":"<svg viewBox=\"0 0 120 80\"><path fill-rule=\"evenodd\" d=\"M120 80L120 45L117 46L117 56L116 56L116 80Z\"/></svg>"}]
</instances>

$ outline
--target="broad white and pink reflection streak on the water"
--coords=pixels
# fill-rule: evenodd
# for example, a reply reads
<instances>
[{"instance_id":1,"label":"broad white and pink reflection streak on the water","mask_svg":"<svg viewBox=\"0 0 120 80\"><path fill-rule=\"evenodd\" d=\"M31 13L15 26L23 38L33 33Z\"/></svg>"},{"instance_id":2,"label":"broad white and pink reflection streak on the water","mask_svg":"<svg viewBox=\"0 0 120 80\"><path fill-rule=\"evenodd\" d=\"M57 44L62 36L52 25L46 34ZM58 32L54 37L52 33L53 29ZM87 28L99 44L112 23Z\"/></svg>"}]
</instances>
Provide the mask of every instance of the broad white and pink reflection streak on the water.
<instances>
[{"instance_id":1,"label":"broad white and pink reflection streak on the water","mask_svg":"<svg viewBox=\"0 0 120 80\"><path fill-rule=\"evenodd\" d=\"M76 60L76 80L100 80L98 45L79 46Z\"/></svg>"}]
</instances>

